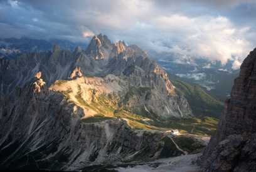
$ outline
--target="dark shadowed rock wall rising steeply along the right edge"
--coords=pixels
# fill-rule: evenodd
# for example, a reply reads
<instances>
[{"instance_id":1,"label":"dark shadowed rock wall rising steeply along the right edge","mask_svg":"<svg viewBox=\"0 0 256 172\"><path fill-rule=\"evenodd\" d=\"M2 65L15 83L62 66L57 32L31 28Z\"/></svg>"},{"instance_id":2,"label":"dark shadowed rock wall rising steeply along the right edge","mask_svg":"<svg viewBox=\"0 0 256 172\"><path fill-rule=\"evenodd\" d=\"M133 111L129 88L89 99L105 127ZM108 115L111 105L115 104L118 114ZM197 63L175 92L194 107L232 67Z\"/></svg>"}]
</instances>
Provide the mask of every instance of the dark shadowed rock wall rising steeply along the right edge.
<instances>
[{"instance_id":1,"label":"dark shadowed rock wall rising steeply along the right edge","mask_svg":"<svg viewBox=\"0 0 256 172\"><path fill-rule=\"evenodd\" d=\"M256 48L243 61L201 165L203 171L256 171Z\"/></svg>"}]
</instances>

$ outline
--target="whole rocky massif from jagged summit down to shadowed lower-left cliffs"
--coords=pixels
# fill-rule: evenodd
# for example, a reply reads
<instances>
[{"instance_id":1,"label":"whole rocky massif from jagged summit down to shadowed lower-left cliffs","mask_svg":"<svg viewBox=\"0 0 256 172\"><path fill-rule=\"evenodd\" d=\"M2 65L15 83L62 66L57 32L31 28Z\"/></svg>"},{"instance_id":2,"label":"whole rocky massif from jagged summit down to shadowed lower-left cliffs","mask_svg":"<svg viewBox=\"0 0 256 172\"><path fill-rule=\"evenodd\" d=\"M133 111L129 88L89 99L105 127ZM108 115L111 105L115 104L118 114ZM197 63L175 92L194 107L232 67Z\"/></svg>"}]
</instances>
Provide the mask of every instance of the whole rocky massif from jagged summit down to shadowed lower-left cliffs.
<instances>
[{"instance_id":1,"label":"whole rocky massif from jagged summit down to shadowed lower-left cliffs","mask_svg":"<svg viewBox=\"0 0 256 172\"><path fill-rule=\"evenodd\" d=\"M78 170L178 156L150 123L193 117L156 61L102 34L85 51L56 45L1 60L0 84L0 169Z\"/></svg>"}]
</instances>

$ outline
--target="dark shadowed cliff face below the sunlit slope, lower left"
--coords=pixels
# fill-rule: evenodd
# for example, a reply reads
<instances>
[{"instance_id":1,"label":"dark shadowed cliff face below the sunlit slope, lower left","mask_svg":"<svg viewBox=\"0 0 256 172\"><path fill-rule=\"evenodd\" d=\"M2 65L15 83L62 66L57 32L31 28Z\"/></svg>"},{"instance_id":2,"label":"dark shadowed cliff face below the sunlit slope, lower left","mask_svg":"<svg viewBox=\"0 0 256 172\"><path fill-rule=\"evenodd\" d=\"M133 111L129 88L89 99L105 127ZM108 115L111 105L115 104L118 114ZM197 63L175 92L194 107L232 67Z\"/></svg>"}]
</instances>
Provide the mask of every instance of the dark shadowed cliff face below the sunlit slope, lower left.
<instances>
[{"instance_id":1,"label":"dark shadowed cliff face below the sunlit slope, lower left","mask_svg":"<svg viewBox=\"0 0 256 172\"><path fill-rule=\"evenodd\" d=\"M85 83L82 78L76 80ZM105 91L100 89L101 81L86 85ZM110 93L115 81L106 78L104 82L109 82ZM132 129L127 119L83 122L89 113L87 104L72 103L71 94L65 99L67 92L61 86L55 91L58 87L48 88L42 79L35 79L24 88L17 87L13 96L0 97L0 169L77 171L92 164L151 161L165 151L181 154L173 143L166 146L166 134Z\"/></svg>"}]
</instances>

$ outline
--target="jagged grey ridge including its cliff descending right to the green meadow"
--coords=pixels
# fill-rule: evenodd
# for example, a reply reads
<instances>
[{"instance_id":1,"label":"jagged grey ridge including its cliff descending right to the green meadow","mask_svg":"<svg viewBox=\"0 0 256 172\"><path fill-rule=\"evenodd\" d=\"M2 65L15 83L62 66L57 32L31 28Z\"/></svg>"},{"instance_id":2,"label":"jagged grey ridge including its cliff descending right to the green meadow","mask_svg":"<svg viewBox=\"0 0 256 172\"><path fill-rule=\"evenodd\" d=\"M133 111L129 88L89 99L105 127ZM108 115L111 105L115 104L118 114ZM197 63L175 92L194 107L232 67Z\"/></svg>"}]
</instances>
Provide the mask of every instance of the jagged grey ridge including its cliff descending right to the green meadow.
<instances>
[{"instance_id":1,"label":"jagged grey ridge including its cliff descending right to the green meadow","mask_svg":"<svg viewBox=\"0 0 256 172\"><path fill-rule=\"evenodd\" d=\"M139 68L143 74L129 71L132 66ZM166 118L193 116L184 98L171 95L174 86L154 59L150 59L146 52L136 45L127 46L124 41L112 44L107 36L102 34L94 36L85 51L78 46L71 53L56 45L53 52L27 53L11 61L1 61L0 94L13 93L16 86L25 86L35 76L50 86L59 79L70 80L88 74L100 77L124 74L131 86L148 87L161 94L161 98L157 99L157 108L150 105L156 97L151 97L150 101L135 98L139 105L149 103L150 109ZM181 99L183 103L179 104Z\"/></svg>"}]
</instances>

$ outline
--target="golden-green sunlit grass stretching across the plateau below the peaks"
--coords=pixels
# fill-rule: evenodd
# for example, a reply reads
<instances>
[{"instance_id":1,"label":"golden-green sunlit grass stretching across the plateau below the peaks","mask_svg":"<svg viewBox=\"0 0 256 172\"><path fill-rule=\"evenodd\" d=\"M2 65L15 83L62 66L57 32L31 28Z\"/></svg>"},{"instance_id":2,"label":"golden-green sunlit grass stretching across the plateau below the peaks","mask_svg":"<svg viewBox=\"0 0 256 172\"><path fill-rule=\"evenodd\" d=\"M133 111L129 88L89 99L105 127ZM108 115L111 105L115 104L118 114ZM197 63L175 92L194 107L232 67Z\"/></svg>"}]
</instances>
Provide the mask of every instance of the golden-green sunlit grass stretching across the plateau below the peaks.
<instances>
[{"instance_id":1,"label":"golden-green sunlit grass stretching across the plateau below the peaks","mask_svg":"<svg viewBox=\"0 0 256 172\"><path fill-rule=\"evenodd\" d=\"M91 76L87 76L91 77ZM65 80L56 81L56 85L60 86L62 83L67 83ZM170 129L178 129L179 133L190 133L200 135L211 135L218 125L218 119L211 117L204 118L189 118L179 119L171 118L166 119L163 116L155 114L149 107L138 105L129 107L129 98L134 95L147 95L151 93L150 88L129 88L127 93L107 93L99 94L97 89L82 88L77 84L77 93L75 100L70 98L73 93L72 88L67 88L66 91L61 91L65 95L63 99L69 103L77 101L86 109L92 109L97 114L89 118L83 118L80 121L83 123L100 123L109 119L122 118L126 119L127 123L133 129L152 129L157 131L167 131ZM87 95L89 100L85 101L83 95ZM124 98L124 99L122 99ZM147 109L147 110L146 110Z\"/></svg>"}]
</instances>

